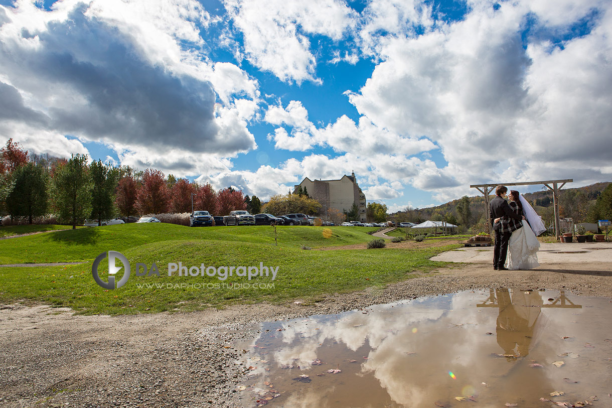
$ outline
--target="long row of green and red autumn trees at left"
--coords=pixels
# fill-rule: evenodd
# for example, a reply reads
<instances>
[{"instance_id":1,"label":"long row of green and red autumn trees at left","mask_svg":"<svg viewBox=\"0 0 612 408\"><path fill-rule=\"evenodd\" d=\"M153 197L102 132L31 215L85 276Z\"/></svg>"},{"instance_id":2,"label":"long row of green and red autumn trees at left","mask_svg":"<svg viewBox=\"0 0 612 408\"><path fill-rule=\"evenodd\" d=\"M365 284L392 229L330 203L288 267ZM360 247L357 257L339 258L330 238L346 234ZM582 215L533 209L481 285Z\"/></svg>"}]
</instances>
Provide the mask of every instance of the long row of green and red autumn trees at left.
<instances>
[{"instance_id":1,"label":"long row of green and red autumn trees at left","mask_svg":"<svg viewBox=\"0 0 612 408\"><path fill-rule=\"evenodd\" d=\"M93 219L121 215L190 213L205 210L229 214L233 210L261 211L253 195L226 187L215 191L211 184L185 178L166 177L160 170L136 171L129 166L114 167L88 156L73 154L70 159L30 154L9 139L0 149L0 210L12 219L55 214L61 222L81 224Z\"/></svg>"}]
</instances>

